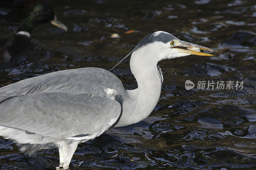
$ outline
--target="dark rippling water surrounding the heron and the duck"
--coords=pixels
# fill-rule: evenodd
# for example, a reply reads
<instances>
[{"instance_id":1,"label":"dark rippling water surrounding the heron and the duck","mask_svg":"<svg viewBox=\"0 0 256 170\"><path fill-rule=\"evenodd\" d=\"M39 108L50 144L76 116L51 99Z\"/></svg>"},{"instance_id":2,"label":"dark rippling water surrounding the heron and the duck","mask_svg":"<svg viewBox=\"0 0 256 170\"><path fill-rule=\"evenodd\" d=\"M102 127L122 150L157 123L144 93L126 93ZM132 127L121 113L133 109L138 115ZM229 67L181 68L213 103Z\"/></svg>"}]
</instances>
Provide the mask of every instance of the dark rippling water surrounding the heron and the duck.
<instances>
[{"instance_id":1,"label":"dark rippling water surrounding the heron and the duck","mask_svg":"<svg viewBox=\"0 0 256 170\"><path fill-rule=\"evenodd\" d=\"M110 69L158 30L215 50L212 57L159 62L164 82L155 110L137 124L80 144L71 169L256 169L255 1L45 2L68 32L50 24L37 27L28 48L0 66L0 86L57 70ZM12 33L38 3L2 1L0 35ZM112 33L120 38L110 38ZM136 88L129 60L113 72L125 88ZM186 80L244 84L238 90L186 90ZM56 149L28 157L3 138L0 149L1 169L55 169L59 163Z\"/></svg>"}]
</instances>

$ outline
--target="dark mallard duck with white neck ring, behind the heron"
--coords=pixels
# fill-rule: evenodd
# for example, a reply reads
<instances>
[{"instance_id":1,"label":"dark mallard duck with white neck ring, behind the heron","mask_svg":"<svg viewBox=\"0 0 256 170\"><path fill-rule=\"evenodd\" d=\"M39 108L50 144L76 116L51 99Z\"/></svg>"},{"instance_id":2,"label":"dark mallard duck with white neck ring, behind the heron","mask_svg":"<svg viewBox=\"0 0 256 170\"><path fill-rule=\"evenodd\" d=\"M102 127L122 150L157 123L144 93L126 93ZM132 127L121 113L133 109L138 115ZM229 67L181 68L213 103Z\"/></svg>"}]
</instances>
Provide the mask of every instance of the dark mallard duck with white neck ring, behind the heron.
<instances>
[{"instance_id":1,"label":"dark mallard duck with white neck ring, behind the heron","mask_svg":"<svg viewBox=\"0 0 256 170\"><path fill-rule=\"evenodd\" d=\"M64 24L57 20L49 5L38 4L14 33L0 39L0 64L9 62L13 55L25 48L30 38L30 32L37 25L48 22L65 31L68 30Z\"/></svg>"}]
</instances>

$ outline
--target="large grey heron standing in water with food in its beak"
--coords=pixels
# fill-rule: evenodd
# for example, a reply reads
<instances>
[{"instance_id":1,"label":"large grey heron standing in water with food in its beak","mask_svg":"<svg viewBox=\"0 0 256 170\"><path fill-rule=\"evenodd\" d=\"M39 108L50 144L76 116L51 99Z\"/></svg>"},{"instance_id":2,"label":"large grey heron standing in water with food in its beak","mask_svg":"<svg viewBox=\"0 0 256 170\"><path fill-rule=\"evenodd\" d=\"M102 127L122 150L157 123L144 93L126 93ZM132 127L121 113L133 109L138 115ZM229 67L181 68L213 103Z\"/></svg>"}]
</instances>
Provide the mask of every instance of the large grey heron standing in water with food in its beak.
<instances>
[{"instance_id":1,"label":"large grey heron standing in water with food in its beak","mask_svg":"<svg viewBox=\"0 0 256 170\"><path fill-rule=\"evenodd\" d=\"M132 54L130 68L138 84L134 90L125 90L116 75L100 68L56 71L4 86L0 135L27 153L57 147L56 169L68 169L79 143L110 128L140 122L153 111L163 82L160 60L211 55L200 49L213 51L167 32L149 34L120 61Z\"/></svg>"}]
</instances>

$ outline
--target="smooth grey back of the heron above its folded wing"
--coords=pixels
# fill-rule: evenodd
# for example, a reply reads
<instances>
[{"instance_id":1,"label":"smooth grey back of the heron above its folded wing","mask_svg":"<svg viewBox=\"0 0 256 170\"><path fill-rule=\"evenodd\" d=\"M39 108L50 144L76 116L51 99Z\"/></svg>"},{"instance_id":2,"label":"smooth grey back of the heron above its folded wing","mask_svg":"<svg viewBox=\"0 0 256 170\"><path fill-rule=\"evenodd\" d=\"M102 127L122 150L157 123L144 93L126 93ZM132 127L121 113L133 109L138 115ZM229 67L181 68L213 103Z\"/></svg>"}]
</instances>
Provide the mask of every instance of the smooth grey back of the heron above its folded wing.
<instances>
[{"instance_id":1,"label":"smooth grey back of the heron above its folded wing","mask_svg":"<svg viewBox=\"0 0 256 170\"><path fill-rule=\"evenodd\" d=\"M122 82L113 73L100 68L80 68L57 71L7 85L0 88L0 96L6 95L2 98L4 100L17 95L63 92L111 98L113 95L109 96L109 93L106 93L109 89L114 90L114 95L126 95Z\"/></svg>"}]
</instances>

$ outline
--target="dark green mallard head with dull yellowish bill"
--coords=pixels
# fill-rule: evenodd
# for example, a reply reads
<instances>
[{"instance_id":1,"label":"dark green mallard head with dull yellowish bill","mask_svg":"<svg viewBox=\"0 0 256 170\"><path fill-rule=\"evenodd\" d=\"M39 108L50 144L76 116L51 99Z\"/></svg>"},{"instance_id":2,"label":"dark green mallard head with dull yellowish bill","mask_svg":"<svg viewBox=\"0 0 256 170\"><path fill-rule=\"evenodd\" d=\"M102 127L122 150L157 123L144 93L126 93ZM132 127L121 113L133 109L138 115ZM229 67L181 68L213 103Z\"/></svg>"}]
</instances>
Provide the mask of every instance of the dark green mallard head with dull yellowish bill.
<instances>
[{"instance_id":1,"label":"dark green mallard head with dull yellowish bill","mask_svg":"<svg viewBox=\"0 0 256 170\"><path fill-rule=\"evenodd\" d=\"M49 5L38 4L33 11L30 12L28 17L21 23L16 32L26 31L30 33L37 25L43 23L51 23L61 29L64 29L65 31L68 30L64 24L57 20L53 9Z\"/></svg>"}]
</instances>

